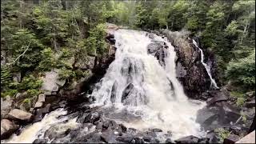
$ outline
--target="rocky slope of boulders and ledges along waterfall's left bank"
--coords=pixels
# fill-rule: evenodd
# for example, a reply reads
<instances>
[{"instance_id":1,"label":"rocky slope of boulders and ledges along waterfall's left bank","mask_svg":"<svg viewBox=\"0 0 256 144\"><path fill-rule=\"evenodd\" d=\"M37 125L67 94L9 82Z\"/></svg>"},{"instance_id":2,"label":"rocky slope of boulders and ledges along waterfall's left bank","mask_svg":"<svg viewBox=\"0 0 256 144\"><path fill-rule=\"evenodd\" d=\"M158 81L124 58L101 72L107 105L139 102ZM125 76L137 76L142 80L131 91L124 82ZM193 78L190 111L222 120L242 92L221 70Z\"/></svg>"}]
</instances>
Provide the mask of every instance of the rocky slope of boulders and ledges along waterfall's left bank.
<instances>
[{"instance_id":1,"label":"rocky slope of boulders and ledges along waterfall's left bank","mask_svg":"<svg viewBox=\"0 0 256 144\"><path fill-rule=\"evenodd\" d=\"M41 78L42 94L24 103L26 93L18 93L14 98L1 98L1 139L8 138L18 130L19 126L26 126L30 122L41 121L44 114L66 105L66 102L79 100L86 101L84 96L90 90L91 84L97 82L106 73L106 69L114 60L115 47L113 30L118 26L108 25L106 42L108 50L101 57L90 56L88 60L71 63L74 69L86 70L87 76L76 81L66 82L58 76L58 69L53 69Z\"/></svg>"}]
</instances>

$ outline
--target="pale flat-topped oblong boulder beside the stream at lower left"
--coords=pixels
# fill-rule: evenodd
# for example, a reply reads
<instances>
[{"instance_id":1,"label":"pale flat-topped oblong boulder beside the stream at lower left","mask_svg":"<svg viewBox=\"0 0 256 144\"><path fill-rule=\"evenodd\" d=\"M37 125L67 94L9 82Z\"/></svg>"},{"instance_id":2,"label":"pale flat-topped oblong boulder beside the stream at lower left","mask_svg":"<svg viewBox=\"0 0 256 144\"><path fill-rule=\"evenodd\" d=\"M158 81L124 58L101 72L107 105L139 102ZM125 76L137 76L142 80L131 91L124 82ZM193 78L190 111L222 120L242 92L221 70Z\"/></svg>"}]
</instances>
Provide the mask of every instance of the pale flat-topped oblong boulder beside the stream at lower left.
<instances>
[{"instance_id":1,"label":"pale flat-topped oblong boulder beside the stream at lower left","mask_svg":"<svg viewBox=\"0 0 256 144\"><path fill-rule=\"evenodd\" d=\"M8 114L8 118L14 119L14 120L19 120L19 121L30 121L32 117L32 114L25 112L23 110L10 110L10 113Z\"/></svg>"}]
</instances>

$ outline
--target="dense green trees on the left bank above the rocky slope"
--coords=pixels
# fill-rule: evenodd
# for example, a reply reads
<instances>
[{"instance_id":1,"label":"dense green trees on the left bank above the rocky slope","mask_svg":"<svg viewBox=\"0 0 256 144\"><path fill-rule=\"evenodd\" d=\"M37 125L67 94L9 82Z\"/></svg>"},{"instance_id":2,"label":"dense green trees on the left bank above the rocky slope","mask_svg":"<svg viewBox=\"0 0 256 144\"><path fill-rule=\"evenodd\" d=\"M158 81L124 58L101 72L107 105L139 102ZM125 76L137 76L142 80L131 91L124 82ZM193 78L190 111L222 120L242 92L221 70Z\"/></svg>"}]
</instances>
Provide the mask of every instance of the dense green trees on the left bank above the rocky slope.
<instances>
[{"instance_id":1,"label":"dense green trees on the left bank above the rocky slope","mask_svg":"<svg viewBox=\"0 0 256 144\"><path fill-rule=\"evenodd\" d=\"M7 54L1 68L2 96L24 91L29 97L38 95L42 81L36 74L53 68L60 69L64 79L82 77L86 73L74 70L74 62L106 52L105 23L116 12L113 2L1 3L1 44ZM16 72L21 73L21 82L14 82Z\"/></svg>"}]
</instances>

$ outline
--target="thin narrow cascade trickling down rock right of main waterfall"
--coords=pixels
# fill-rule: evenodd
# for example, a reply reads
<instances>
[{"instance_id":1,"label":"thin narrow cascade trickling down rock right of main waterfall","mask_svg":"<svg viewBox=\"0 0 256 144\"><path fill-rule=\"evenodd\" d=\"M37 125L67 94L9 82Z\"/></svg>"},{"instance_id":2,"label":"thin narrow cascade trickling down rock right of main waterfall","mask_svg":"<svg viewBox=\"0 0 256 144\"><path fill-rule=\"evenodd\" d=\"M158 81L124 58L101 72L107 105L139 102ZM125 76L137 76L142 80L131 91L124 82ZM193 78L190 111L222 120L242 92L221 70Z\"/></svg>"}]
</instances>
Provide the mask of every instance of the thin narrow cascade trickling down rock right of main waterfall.
<instances>
[{"instance_id":1,"label":"thin narrow cascade trickling down rock right of main waterfall","mask_svg":"<svg viewBox=\"0 0 256 144\"><path fill-rule=\"evenodd\" d=\"M215 82L214 78L210 74L210 66L208 66L205 62L203 62L204 55L203 55L202 49L200 49L200 47L198 46L198 43L195 42L194 39L193 39L193 44L194 44L194 46L196 46L200 50L202 65L205 66L207 74L210 77L210 87L214 86L215 89L219 89L219 87L217 86L217 83Z\"/></svg>"}]
</instances>

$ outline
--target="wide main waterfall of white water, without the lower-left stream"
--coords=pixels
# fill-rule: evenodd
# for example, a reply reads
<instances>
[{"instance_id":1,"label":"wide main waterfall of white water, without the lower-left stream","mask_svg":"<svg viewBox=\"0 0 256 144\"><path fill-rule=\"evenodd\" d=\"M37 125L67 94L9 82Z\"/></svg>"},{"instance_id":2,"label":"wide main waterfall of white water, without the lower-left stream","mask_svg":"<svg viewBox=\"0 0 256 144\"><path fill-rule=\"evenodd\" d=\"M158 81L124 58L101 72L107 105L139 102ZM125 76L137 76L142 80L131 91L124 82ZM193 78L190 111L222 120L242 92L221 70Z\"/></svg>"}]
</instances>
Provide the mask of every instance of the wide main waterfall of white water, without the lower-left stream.
<instances>
[{"instance_id":1,"label":"wide main waterfall of white water, without the lower-left stream","mask_svg":"<svg viewBox=\"0 0 256 144\"><path fill-rule=\"evenodd\" d=\"M175 75L176 54L170 42L154 35L155 41L166 42L169 47L164 68L157 58L147 54L151 39L146 32L117 30L114 37L116 57L91 94L96 98L92 106L115 106L140 116L139 121L122 121L126 126L138 130L170 130L172 138L200 134L200 126L195 118L204 103L194 103L186 98ZM127 87L132 87L132 90L123 98L123 91Z\"/></svg>"}]
</instances>

